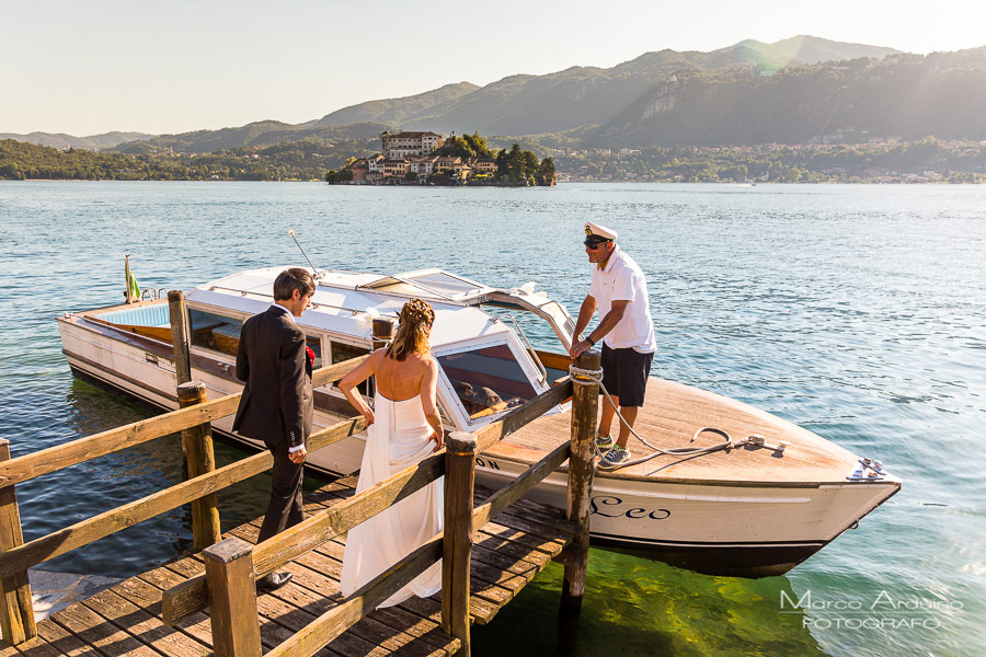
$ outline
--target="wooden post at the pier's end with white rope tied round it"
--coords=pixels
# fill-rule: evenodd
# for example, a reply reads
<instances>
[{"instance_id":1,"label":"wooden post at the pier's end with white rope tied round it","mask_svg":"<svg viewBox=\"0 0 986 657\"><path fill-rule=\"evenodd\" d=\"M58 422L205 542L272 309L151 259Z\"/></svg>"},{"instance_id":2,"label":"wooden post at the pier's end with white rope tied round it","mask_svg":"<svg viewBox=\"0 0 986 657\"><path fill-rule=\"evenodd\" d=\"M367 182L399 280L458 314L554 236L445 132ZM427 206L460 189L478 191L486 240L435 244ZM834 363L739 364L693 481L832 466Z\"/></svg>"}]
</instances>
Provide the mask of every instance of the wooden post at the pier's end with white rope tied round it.
<instances>
[{"instance_id":1,"label":"wooden post at the pier's end with white rope tied round it","mask_svg":"<svg viewBox=\"0 0 986 657\"><path fill-rule=\"evenodd\" d=\"M589 350L575 359L575 367L599 369L599 351ZM569 458L567 518L578 523L572 539L572 560L565 564L562 585L562 609L577 611L585 592L585 572L588 567L589 500L595 471L596 427L599 411L599 384L583 384L584 378L572 381L572 454Z\"/></svg>"}]
</instances>

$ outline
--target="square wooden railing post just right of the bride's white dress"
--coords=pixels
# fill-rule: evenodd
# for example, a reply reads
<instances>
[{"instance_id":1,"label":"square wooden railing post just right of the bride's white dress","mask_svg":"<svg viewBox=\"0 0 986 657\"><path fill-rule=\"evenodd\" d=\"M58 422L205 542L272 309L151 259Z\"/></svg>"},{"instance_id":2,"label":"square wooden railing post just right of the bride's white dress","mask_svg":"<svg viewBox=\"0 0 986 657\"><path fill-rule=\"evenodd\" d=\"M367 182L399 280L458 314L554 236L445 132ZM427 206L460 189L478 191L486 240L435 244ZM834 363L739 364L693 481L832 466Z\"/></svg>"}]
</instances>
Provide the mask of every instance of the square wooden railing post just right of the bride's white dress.
<instances>
[{"instance_id":1,"label":"square wooden railing post just right of the bride's white dress","mask_svg":"<svg viewBox=\"0 0 986 657\"><path fill-rule=\"evenodd\" d=\"M461 642L457 657L469 657L469 565L472 558L472 496L475 436L452 431L445 452L445 531L442 542L442 630Z\"/></svg>"}]
</instances>

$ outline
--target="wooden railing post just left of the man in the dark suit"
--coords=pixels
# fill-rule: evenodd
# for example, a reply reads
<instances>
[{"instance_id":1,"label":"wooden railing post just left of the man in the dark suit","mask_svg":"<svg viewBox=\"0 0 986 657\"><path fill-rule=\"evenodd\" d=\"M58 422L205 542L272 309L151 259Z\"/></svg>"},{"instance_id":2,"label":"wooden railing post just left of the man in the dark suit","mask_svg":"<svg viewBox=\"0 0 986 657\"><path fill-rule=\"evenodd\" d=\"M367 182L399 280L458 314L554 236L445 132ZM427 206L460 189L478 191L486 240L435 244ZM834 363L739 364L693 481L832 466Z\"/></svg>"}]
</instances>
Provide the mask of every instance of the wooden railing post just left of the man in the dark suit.
<instances>
[{"instance_id":1,"label":"wooden railing post just left of the man in the dark suit","mask_svg":"<svg viewBox=\"0 0 986 657\"><path fill-rule=\"evenodd\" d=\"M202 381L188 381L177 387L179 405L182 408L206 401L206 388ZM188 479L195 479L216 470L213 451L213 434L209 423L182 429L182 445L188 465ZM205 550L219 542L219 508L216 494L209 493L192 500L192 540L195 550Z\"/></svg>"}]
</instances>

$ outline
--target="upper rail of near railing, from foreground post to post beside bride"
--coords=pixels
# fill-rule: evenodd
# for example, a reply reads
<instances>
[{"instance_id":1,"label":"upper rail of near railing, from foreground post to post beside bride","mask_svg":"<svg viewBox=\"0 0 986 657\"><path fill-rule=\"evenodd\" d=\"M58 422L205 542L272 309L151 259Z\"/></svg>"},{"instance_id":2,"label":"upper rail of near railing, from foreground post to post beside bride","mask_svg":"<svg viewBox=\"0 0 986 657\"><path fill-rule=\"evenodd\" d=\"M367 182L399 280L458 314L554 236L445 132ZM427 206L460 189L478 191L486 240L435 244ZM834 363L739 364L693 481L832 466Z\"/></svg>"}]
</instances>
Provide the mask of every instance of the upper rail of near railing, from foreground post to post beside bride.
<instances>
[{"instance_id":1,"label":"upper rail of near railing, from foreground post to post beside bride","mask_svg":"<svg viewBox=\"0 0 986 657\"><path fill-rule=\"evenodd\" d=\"M270 454L266 456L271 458ZM300 523L271 537L257 545L254 553L256 576L263 577L267 573L273 573L285 563L298 558L334 537L345 533L367 518L379 514L435 481L444 473L444 459L445 452L439 450L415 465L406 468L364 491L360 495L339 502L325 510L302 520ZM205 604L206 588L204 579L196 578L183 583L164 596L164 623L167 625L176 623L187 614L205 609Z\"/></svg>"}]
</instances>

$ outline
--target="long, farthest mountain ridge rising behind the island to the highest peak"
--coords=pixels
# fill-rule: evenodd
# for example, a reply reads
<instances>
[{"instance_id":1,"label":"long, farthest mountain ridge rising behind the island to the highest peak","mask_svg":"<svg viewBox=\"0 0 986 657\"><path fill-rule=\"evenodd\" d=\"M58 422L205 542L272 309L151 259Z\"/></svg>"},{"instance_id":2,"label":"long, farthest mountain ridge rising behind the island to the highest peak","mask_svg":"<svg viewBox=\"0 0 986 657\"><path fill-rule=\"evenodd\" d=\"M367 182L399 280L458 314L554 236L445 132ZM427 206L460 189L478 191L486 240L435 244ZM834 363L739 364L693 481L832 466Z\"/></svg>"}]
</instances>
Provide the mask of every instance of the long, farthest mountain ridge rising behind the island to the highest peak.
<instances>
[{"instance_id":1,"label":"long, farthest mountain ridge rising behind the island to the highest peak","mask_svg":"<svg viewBox=\"0 0 986 657\"><path fill-rule=\"evenodd\" d=\"M572 67L544 76L511 76L482 88L458 82L412 96L367 101L298 125L264 120L221 130L163 135L114 150L200 153L303 139L366 139L382 129L444 134L478 130L515 136L566 130L589 134L615 120L676 72L743 67L755 76L770 76L790 66L860 56L882 58L895 53L892 48L812 36L775 44L745 41L711 53L661 50L609 69ZM332 132L325 132L329 129Z\"/></svg>"}]
</instances>

